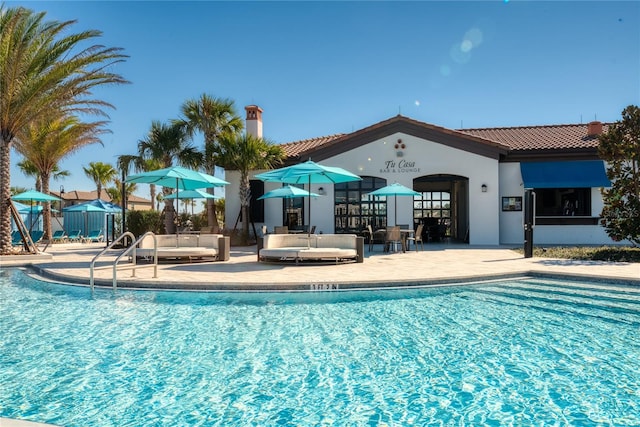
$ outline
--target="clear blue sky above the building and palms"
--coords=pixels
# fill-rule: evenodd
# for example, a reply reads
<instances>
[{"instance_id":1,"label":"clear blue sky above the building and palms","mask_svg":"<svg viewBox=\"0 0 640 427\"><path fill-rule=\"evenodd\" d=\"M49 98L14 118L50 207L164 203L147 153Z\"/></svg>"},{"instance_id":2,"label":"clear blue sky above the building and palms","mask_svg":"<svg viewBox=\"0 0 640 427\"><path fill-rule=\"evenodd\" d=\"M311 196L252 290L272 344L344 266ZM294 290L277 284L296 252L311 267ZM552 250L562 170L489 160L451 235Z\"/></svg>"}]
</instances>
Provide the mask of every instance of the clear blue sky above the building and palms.
<instances>
[{"instance_id":1,"label":"clear blue sky above the building and palms","mask_svg":"<svg viewBox=\"0 0 640 427\"><path fill-rule=\"evenodd\" d=\"M640 104L640 2L8 1L97 29L132 83L104 146L51 182L92 190L82 166L134 154L152 120L207 93L263 108L276 143L352 132L398 113L451 129L605 122ZM196 145L201 140L195 141ZM12 153L15 165L20 156ZM33 180L12 167L12 185ZM145 196L142 189L137 192Z\"/></svg>"}]
</instances>

